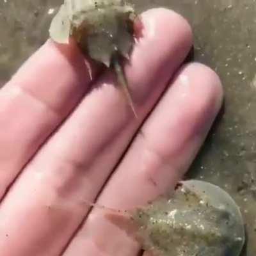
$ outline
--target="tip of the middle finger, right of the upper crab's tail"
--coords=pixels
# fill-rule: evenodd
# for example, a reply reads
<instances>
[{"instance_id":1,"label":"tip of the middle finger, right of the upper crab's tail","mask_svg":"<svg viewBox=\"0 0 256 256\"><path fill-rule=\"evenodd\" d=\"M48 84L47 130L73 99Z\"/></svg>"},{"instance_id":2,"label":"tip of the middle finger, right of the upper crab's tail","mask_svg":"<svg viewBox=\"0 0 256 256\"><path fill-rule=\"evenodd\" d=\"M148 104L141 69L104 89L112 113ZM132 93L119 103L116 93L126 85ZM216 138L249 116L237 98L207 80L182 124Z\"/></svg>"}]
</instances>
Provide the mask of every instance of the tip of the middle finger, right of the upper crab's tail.
<instances>
[{"instance_id":1,"label":"tip of the middle finger, right of the upper crab's tail","mask_svg":"<svg viewBox=\"0 0 256 256\"><path fill-rule=\"evenodd\" d=\"M129 65L125 67L125 74L134 101L142 106L149 96L156 97L161 93L186 59L193 36L188 21L166 8L147 10L141 13L140 19L143 29L134 45Z\"/></svg>"}]
</instances>

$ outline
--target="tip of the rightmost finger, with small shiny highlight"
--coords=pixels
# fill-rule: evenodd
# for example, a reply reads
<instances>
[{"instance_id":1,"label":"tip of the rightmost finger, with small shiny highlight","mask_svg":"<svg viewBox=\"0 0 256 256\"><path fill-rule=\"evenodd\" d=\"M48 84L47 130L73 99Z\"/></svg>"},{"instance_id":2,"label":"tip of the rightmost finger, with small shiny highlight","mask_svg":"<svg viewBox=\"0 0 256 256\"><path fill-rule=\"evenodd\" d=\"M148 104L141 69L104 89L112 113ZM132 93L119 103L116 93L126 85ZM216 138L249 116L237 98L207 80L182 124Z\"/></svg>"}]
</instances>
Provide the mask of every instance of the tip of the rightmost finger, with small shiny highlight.
<instances>
[{"instance_id":1,"label":"tip of the rightmost finger, with small shiny highlight","mask_svg":"<svg viewBox=\"0 0 256 256\"><path fill-rule=\"evenodd\" d=\"M164 157L192 159L220 111L222 99L220 78L211 68L200 63L184 65L143 127L148 143Z\"/></svg>"}]
</instances>

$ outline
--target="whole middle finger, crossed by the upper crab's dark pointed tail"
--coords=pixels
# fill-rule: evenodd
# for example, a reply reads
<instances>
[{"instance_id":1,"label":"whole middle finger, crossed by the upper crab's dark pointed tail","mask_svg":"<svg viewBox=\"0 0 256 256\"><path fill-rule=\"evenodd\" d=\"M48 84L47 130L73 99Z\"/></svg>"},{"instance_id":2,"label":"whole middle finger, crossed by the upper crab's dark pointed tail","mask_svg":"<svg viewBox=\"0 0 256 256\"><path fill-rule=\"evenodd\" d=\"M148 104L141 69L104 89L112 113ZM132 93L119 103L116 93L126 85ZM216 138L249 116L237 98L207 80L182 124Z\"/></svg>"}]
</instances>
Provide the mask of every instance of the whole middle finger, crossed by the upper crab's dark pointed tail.
<instances>
[{"instance_id":1,"label":"whole middle finger, crossed by the upper crab's dark pointed tail","mask_svg":"<svg viewBox=\"0 0 256 256\"><path fill-rule=\"evenodd\" d=\"M143 38L126 70L141 119L191 47L191 29L176 13L155 9L142 19ZM88 212L81 200L94 200L138 125L106 73L6 196L0 207L1 255L58 255Z\"/></svg>"}]
</instances>

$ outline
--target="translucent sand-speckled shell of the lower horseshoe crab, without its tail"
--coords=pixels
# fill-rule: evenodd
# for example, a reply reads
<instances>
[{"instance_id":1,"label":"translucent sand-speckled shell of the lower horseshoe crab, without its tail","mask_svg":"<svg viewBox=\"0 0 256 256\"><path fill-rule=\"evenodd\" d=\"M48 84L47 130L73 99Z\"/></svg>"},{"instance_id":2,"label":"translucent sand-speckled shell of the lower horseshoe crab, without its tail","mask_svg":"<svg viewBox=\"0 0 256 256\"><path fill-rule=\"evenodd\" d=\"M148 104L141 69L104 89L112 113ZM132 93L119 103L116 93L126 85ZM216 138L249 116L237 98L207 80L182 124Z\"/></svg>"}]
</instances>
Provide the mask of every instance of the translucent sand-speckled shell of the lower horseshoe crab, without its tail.
<instances>
[{"instance_id":1,"label":"translucent sand-speckled shell of the lower horseshoe crab, without its tail","mask_svg":"<svg viewBox=\"0 0 256 256\"><path fill-rule=\"evenodd\" d=\"M243 219L234 200L200 180L181 182L170 199L138 209L132 220L143 249L156 256L238 256L244 245Z\"/></svg>"}]
</instances>

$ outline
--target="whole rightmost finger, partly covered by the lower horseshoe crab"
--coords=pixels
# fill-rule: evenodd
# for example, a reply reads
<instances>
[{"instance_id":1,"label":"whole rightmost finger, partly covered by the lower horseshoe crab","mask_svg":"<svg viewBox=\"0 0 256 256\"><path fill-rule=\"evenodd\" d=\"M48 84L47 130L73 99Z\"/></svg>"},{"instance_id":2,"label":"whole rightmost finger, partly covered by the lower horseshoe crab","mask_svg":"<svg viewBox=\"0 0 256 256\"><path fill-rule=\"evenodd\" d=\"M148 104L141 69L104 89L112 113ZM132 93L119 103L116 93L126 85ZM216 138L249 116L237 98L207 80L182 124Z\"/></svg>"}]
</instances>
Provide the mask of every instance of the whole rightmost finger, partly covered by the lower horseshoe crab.
<instances>
[{"instance_id":1,"label":"whole rightmost finger, partly covered by the lower horseshoe crab","mask_svg":"<svg viewBox=\"0 0 256 256\"><path fill-rule=\"evenodd\" d=\"M221 99L220 80L212 70L197 63L184 67L143 125L145 136L134 140L97 204L133 209L174 188L202 145ZM139 249L94 208L64 255L135 256Z\"/></svg>"}]
</instances>

